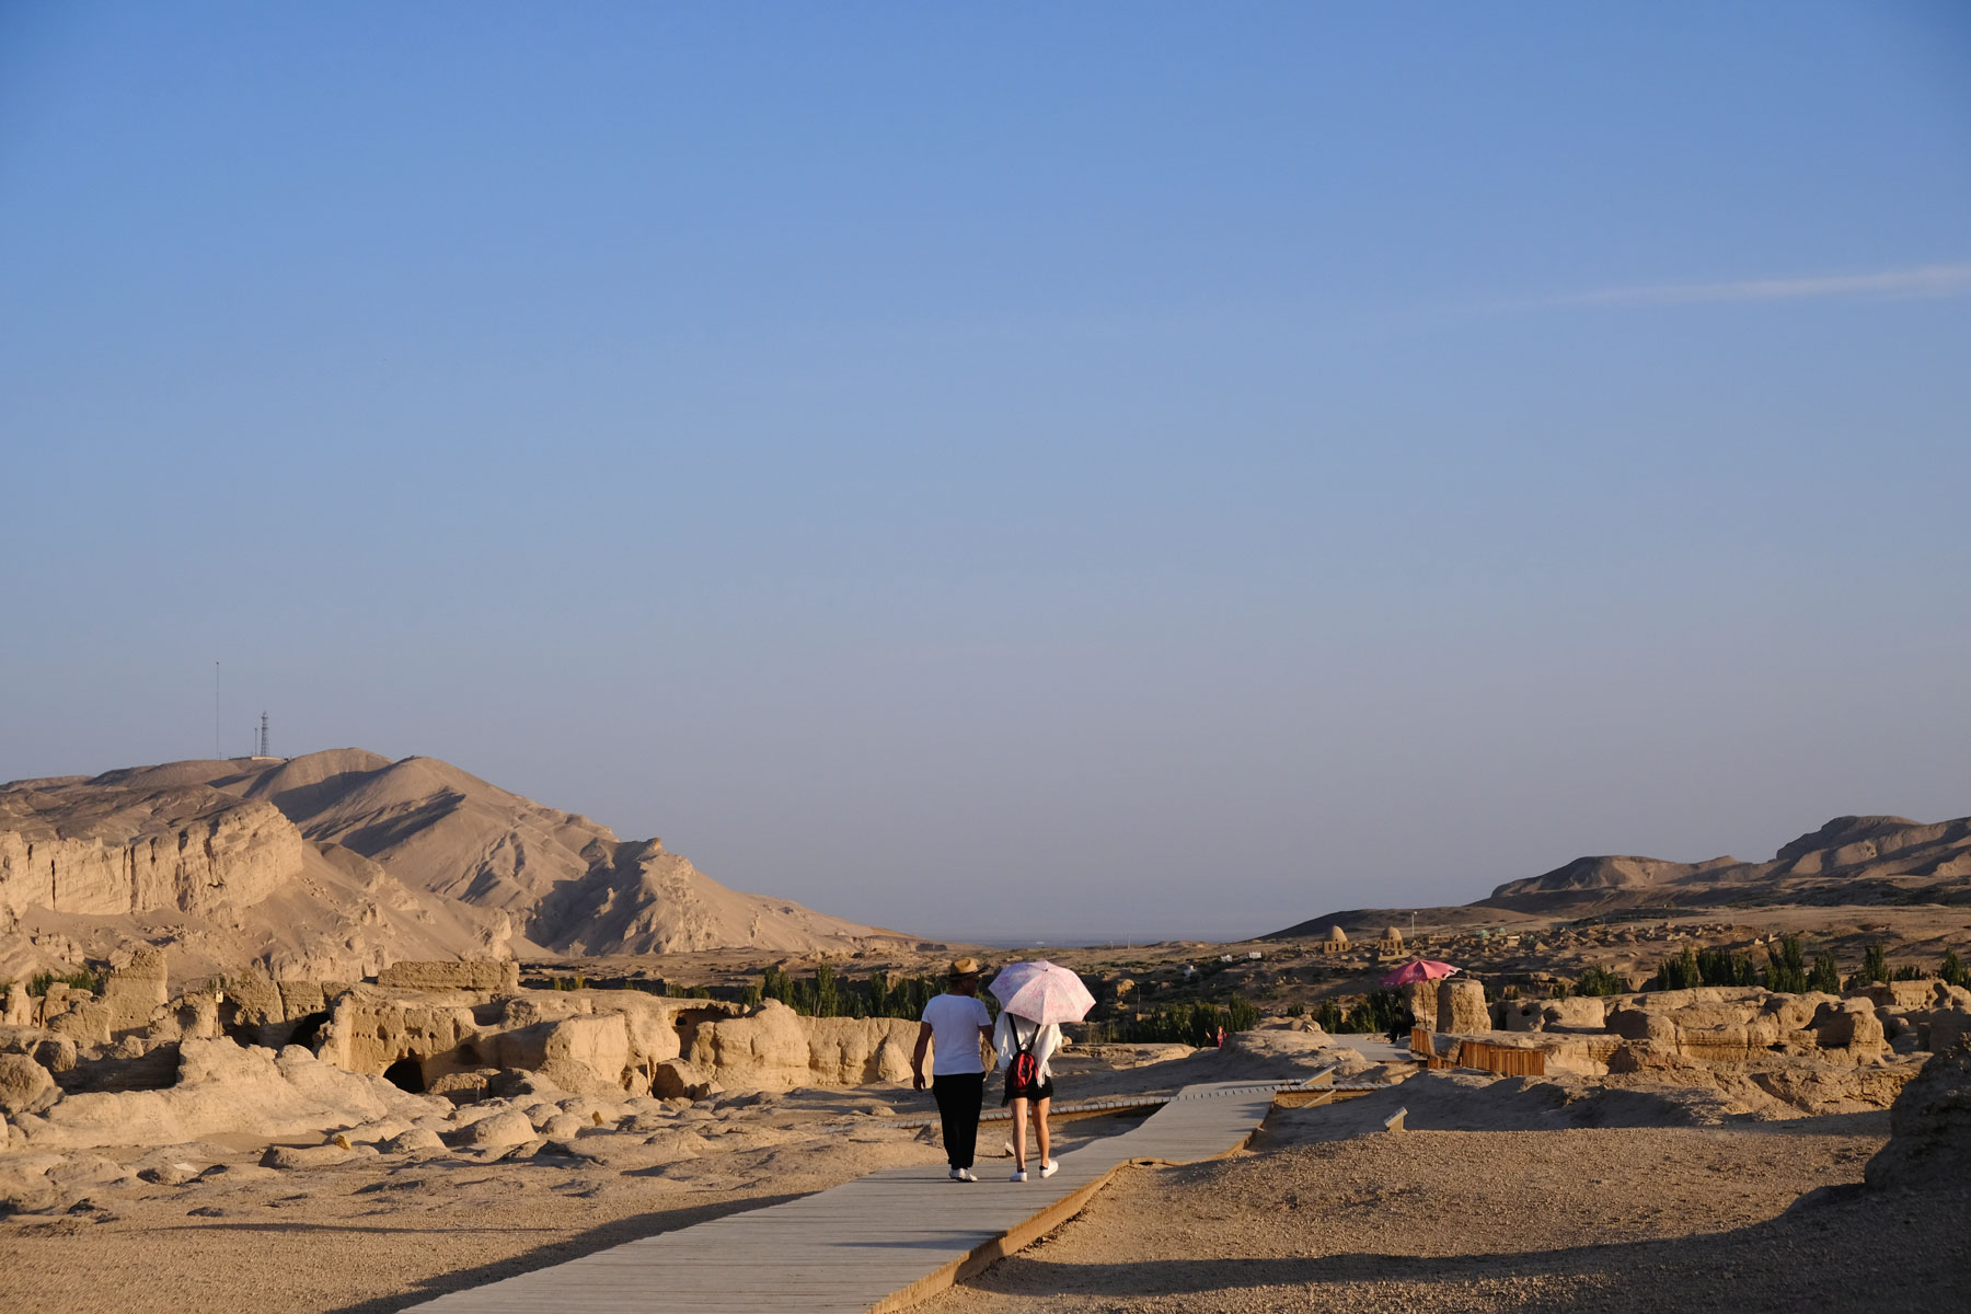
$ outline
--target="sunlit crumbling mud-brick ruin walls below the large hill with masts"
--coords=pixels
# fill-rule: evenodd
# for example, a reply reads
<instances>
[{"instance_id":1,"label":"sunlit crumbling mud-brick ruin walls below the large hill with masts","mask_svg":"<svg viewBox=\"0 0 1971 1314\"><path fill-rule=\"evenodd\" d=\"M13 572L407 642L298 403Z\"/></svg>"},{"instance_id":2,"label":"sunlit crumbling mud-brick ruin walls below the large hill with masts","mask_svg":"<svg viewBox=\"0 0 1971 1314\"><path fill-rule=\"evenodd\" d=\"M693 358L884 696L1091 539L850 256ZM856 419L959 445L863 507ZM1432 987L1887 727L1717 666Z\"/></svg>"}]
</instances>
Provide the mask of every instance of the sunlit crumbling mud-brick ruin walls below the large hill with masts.
<instances>
[{"instance_id":1,"label":"sunlit crumbling mud-brick ruin walls below the large hill with masts","mask_svg":"<svg viewBox=\"0 0 1971 1314\"><path fill-rule=\"evenodd\" d=\"M540 1093L696 1101L903 1082L915 1030L771 1001L522 989L512 961L404 961L374 981L221 977L173 995L164 953L140 950L101 991L10 987L0 1113L10 1143L110 1145L132 1129L278 1135Z\"/></svg>"}]
</instances>

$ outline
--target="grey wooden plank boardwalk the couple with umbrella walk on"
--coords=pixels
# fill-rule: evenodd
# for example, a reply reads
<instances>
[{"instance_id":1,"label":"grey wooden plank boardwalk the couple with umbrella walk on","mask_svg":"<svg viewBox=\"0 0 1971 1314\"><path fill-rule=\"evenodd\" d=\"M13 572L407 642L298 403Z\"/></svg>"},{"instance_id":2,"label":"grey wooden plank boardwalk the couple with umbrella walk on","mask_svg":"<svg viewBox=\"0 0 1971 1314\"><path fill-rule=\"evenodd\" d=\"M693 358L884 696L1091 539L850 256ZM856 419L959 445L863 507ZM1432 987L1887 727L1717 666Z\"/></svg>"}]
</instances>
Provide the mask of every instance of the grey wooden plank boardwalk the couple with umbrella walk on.
<instances>
[{"instance_id":1,"label":"grey wooden plank boardwalk the couple with umbrella walk on","mask_svg":"<svg viewBox=\"0 0 1971 1314\"><path fill-rule=\"evenodd\" d=\"M946 1166L885 1168L814 1196L666 1231L418 1310L534 1314L879 1314L905 1310L1011 1255L1074 1215L1121 1164L1183 1164L1238 1150L1275 1089L1228 1082L1187 1085L1120 1137L1060 1154L1051 1178L1007 1182L993 1160L980 1182ZM1029 1166L1037 1160L1029 1160Z\"/></svg>"}]
</instances>

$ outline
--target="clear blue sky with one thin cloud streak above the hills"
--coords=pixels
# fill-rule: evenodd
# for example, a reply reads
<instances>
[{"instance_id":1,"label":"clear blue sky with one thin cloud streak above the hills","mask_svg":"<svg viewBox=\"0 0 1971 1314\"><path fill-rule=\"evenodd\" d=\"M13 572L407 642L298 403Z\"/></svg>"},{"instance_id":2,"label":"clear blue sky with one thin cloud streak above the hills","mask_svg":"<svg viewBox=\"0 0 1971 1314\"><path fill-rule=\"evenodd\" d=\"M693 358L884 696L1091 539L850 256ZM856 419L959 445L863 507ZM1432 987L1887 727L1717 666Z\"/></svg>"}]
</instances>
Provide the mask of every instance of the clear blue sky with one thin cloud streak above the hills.
<instances>
[{"instance_id":1,"label":"clear blue sky with one thin cloud streak above the hills","mask_svg":"<svg viewBox=\"0 0 1971 1314\"><path fill-rule=\"evenodd\" d=\"M1971 812L1971 18L0 4L0 778L936 936Z\"/></svg>"}]
</instances>

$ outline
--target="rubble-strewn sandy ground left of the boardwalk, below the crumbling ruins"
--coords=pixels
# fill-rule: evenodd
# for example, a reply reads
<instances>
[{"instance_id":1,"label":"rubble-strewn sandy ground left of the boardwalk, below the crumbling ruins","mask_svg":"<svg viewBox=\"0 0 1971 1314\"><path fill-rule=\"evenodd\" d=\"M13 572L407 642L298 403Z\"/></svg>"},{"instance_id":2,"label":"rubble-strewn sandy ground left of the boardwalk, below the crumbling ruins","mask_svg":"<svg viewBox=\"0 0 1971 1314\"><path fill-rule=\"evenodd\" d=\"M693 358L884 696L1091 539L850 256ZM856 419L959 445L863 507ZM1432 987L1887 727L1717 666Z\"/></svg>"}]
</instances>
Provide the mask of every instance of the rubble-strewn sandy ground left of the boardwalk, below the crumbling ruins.
<instances>
[{"instance_id":1,"label":"rubble-strewn sandy ground left of the boardwalk, below the crumbling ruins","mask_svg":"<svg viewBox=\"0 0 1971 1314\"><path fill-rule=\"evenodd\" d=\"M581 1137L585 1158L447 1150L276 1170L258 1166L258 1143L73 1154L57 1172L75 1206L0 1215L0 1314L384 1314L879 1168L942 1168L932 1135L889 1125L932 1111L903 1089L792 1091L692 1121L682 1158L682 1127L664 1147ZM1064 1123L1058 1143L1133 1123ZM999 1150L989 1125L980 1150ZM170 1162L205 1172L132 1176Z\"/></svg>"}]
</instances>

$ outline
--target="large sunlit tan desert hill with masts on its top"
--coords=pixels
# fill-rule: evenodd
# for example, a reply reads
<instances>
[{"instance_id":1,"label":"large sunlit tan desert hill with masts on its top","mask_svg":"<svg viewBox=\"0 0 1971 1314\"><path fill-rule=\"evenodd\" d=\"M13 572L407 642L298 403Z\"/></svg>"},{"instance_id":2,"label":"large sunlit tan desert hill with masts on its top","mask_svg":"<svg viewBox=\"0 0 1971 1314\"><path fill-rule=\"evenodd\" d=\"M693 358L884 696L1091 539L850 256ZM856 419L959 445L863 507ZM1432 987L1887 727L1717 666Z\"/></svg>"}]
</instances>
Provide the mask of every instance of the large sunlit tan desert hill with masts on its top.
<instances>
[{"instance_id":1,"label":"large sunlit tan desert hill with masts on its top","mask_svg":"<svg viewBox=\"0 0 1971 1314\"><path fill-rule=\"evenodd\" d=\"M0 977L170 944L181 971L400 957L851 950L897 932L741 894L430 756L185 760L0 786Z\"/></svg>"}]
</instances>

